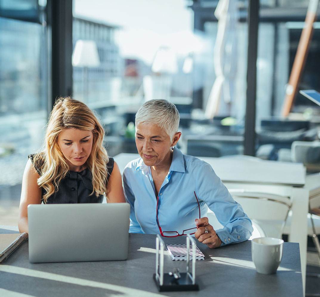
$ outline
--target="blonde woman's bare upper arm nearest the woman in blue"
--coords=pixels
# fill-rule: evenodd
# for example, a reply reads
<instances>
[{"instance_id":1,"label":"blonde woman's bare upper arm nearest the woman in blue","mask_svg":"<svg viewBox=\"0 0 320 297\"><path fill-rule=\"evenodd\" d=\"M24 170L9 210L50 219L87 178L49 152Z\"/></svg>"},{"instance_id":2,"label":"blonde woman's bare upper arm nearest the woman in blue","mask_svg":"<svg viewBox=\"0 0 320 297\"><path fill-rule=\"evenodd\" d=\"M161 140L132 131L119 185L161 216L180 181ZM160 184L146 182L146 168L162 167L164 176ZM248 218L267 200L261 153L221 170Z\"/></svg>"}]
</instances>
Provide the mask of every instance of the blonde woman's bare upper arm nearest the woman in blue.
<instances>
[{"instance_id":1,"label":"blonde woman's bare upper arm nearest the woman in blue","mask_svg":"<svg viewBox=\"0 0 320 297\"><path fill-rule=\"evenodd\" d=\"M114 163L113 170L108 180L108 203L125 202L122 179L117 163Z\"/></svg>"}]
</instances>

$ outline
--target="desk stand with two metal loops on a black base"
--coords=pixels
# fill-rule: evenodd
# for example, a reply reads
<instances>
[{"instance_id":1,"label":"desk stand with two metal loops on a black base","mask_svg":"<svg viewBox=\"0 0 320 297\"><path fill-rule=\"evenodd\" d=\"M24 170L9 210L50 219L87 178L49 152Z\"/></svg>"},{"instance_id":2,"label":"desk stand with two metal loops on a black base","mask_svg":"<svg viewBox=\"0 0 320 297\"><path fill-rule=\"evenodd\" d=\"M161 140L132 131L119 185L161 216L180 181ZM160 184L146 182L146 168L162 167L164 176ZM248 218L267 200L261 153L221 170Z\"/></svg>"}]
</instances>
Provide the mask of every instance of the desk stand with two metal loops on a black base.
<instances>
[{"instance_id":1,"label":"desk stand with two metal loops on a black base","mask_svg":"<svg viewBox=\"0 0 320 297\"><path fill-rule=\"evenodd\" d=\"M179 273L179 269L174 268L169 273L163 272L164 266L164 241L160 235L156 237L156 273L153 279L158 286L159 292L165 291L198 291L199 285L196 284L196 242L187 235L187 269L186 272ZM190 241L192 245L192 256L189 259ZM191 267L190 267L191 263Z\"/></svg>"}]
</instances>

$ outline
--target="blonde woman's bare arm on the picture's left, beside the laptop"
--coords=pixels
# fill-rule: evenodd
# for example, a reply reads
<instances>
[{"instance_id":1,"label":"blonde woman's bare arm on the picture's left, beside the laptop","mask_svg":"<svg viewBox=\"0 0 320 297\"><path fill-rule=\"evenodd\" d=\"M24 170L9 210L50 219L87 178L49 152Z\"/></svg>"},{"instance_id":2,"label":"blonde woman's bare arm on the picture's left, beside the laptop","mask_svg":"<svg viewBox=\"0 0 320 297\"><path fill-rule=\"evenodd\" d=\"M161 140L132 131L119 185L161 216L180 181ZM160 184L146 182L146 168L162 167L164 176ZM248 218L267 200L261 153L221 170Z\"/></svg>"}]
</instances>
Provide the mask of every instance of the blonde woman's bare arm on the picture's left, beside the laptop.
<instances>
[{"instance_id":1,"label":"blonde woman's bare arm on the picture's left, beside the laptop","mask_svg":"<svg viewBox=\"0 0 320 297\"><path fill-rule=\"evenodd\" d=\"M22 189L18 216L20 233L28 233L28 210L29 204L41 203L41 188L37 184L39 174L36 172L31 160L28 160L22 177Z\"/></svg>"}]
</instances>

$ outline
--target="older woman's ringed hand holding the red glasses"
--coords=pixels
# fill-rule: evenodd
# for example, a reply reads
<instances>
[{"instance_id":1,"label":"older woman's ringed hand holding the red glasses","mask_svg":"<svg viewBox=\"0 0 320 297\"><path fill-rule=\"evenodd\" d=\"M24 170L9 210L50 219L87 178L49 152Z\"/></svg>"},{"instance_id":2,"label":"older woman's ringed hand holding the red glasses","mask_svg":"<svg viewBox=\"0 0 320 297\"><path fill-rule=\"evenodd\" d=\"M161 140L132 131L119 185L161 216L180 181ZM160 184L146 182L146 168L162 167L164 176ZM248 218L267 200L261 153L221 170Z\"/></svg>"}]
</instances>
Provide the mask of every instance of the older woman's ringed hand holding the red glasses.
<instances>
[{"instance_id":1,"label":"older woman's ringed hand holding the red glasses","mask_svg":"<svg viewBox=\"0 0 320 297\"><path fill-rule=\"evenodd\" d=\"M196 238L199 242L206 244L211 249L219 247L222 243L216 231L209 224L207 217L196 219L196 226L198 228L195 233Z\"/></svg>"}]
</instances>

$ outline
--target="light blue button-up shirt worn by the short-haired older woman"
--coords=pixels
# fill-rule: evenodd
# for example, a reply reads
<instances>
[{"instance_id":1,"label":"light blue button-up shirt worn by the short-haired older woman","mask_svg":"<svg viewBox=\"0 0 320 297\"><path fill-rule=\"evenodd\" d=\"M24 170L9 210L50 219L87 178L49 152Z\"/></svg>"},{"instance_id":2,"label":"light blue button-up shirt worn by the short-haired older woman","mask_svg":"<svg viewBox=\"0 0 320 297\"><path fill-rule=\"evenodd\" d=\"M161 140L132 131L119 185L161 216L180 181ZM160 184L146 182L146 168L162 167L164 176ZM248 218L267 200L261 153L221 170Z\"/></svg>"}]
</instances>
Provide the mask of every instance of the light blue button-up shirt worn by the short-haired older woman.
<instances>
[{"instance_id":1,"label":"light blue button-up shirt worn by the short-haired older woman","mask_svg":"<svg viewBox=\"0 0 320 297\"><path fill-rule=\"evenodd\" d=\"M232 169L230 169L232 170ZM131 206L131 233L160 234L156 222L157 197L151 169L142 158L127 164L123 174L124 194ZM194 228L195 219L215 213L223 229L215 230L222 245L249 239L252 222L241 205L234 201L211 165L196 157L184 155L176 147L172 163L159 190L158 219L162 231ZM209 222L210 223L210 222Z\"/></svg>"}]
</instances>

